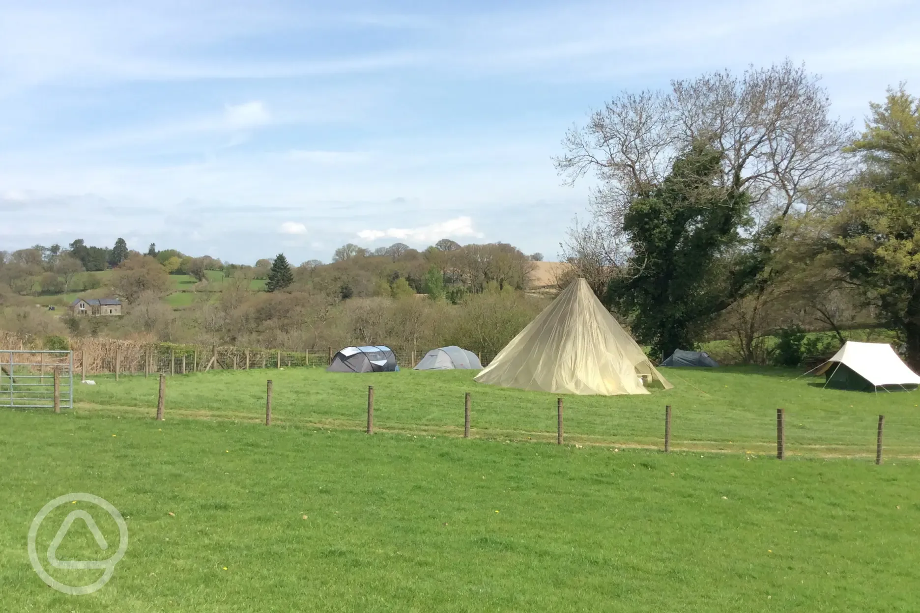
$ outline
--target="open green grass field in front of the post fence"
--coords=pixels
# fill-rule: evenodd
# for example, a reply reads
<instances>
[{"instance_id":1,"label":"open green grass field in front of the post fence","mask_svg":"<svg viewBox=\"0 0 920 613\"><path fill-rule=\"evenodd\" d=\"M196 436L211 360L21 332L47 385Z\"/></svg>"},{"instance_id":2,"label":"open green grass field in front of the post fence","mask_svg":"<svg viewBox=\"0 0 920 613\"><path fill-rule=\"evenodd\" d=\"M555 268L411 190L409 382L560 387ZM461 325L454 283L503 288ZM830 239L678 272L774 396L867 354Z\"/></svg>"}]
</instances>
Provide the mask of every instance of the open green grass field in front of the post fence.
<instances>
[{"instance_id":1,"label":"open green grass field in front of the post fence","mask_svg":"<svg viewBox=\"0 0 920 613\"><path fill-rule=\"evenodd\" d=\"M5 610L915 603L916 461L664 456L78 410L0 413L0 465ZM101 495L129 517L128 554L91 596L52 591L26 555L32 517L67 492ZM42 526L40 551L73 508ZM92 558L94 548L65 541L59 557Z\"/></svg>"}]
</instances>

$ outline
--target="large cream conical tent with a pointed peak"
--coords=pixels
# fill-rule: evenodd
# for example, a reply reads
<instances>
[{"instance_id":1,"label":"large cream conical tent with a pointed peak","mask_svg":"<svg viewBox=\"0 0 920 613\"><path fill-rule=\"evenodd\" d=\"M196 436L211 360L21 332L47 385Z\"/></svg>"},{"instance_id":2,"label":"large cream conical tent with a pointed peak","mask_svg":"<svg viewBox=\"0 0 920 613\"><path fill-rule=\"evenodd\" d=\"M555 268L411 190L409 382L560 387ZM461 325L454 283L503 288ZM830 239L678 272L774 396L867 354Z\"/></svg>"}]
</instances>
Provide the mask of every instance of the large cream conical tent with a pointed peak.
<instances>
[{"instance_id":1,"label":"large cream conical tent with a pointed peak","mask_svg":"<svg viewBox=\"0 0 920 613\"><path fill-rule=\"evenodd\" d=\"M642 379L673 387L578 278L480 372L480 383L538 392L649 393Z\"/></svg>"}]
</instances>

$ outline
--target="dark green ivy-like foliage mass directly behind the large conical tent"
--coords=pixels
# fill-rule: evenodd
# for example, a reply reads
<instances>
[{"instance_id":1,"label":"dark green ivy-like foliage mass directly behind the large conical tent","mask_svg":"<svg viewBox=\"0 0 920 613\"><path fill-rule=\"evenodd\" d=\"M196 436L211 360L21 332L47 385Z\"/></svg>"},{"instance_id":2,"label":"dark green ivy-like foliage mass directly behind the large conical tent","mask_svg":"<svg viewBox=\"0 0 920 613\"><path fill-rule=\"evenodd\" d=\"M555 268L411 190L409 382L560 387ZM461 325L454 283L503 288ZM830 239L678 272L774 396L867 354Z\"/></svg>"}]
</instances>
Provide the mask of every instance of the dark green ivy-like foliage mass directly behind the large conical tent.
<instances>
[{"instance_id":1,"label":"dark green ivy-like foliage mass directly behind the large conical tent","mask_svg":"<svg viewBox=\"0 0 920 613\"><path fill-rule=\"evenodd\" d=\"M606 298L633 316L633 334L658 357L695 346L728 294L720 255L741 241L749 199L718 187L721 161L718 150L697 142L623 220L634 253Z\"/></svg>"}]
</instances>

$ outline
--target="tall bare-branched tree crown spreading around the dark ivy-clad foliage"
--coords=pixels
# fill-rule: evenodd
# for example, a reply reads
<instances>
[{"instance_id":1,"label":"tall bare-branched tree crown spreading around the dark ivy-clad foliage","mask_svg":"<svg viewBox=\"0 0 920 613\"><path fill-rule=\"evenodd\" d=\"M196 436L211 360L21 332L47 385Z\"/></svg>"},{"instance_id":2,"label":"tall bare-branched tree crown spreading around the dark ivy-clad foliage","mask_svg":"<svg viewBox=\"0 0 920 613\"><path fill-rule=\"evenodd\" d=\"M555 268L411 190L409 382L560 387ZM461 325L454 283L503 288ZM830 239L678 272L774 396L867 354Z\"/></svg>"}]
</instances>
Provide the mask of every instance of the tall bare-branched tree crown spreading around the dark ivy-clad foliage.
<instances>
[{"instance_id":1,"label":"tall bare-branched tree crown spreading around the dark ivy-clad foliage","mask_svg":"<svg viewBox=\"0 0 920 613\"><path fill-rule=\"evenodd\" d=\"M569 183L588 174L599 180L590 200L593 222L576 225L563 252L588 263L635 255L623 232L630 204L703 141L722 155L713 187L751 199L752 230L764 254L753 282L733 286L724 306L742 294L763 296L788 217L831 207L831 194L851 172L842 149L852 125L831 119L829 111L819 77L788 61L741 76L726 71L675 80L666 92L615 97L566 134L566 153L556 160Z\"/></svg>"}]
</instances>

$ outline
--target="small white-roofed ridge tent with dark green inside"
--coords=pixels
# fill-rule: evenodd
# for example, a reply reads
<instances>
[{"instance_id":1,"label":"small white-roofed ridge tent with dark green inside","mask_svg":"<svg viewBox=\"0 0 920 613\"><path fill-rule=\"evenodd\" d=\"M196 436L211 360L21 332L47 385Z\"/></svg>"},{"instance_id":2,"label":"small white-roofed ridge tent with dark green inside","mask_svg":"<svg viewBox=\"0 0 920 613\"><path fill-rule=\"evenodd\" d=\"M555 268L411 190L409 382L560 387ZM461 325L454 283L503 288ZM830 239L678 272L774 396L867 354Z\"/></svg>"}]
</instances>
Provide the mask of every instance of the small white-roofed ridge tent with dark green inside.
<instances>
[{"instance_id":1,"label":"small white-roofed ridge tent with dark green inside","mask_svg":"<svg viewBox=\"0 0 920 613\"><path fill-rule=\"evenodd\" d=\"M875 390L889 385L920 384L920 377L898 358L887 343L846 341L840 351L815 370L825 386L847 390Z\"/></svg>"}]
</instances>

